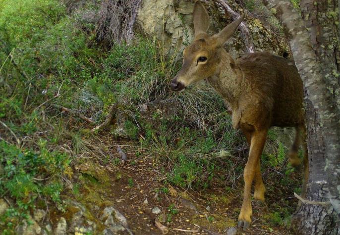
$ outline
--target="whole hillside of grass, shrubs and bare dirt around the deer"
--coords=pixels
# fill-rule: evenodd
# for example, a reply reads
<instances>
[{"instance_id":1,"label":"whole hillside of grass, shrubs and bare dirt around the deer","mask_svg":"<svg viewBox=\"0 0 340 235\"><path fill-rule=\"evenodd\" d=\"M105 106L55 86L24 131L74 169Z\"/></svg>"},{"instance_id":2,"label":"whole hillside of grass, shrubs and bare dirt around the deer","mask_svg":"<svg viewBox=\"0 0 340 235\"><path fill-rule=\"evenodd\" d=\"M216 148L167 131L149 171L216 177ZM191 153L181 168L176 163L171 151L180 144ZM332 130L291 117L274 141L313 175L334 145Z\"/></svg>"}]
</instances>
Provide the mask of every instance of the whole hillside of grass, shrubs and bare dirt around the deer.
<instances>
[{"instance_id":1,"label":"whole hillside of grass, shrubs and bare dirt around the deer","mask_svg":"<svg viewBox=\"0 0 340 235\"><path fill-rule=\"evenodd\" d=\"M264 6L229 3L249 14L256 50L290 54ZM145 15L118 43L103 4L0 0L1 233L236 234L248 145L206 82L169 89L187 43L172 34L192 27L190 14L176 8L184 18L167 45L143 28ZM212 30L232 20L209 10L221 24ZM226 47L244 54L243 35ZM287 162L291 134L270 130L266 201L254 202L249 234L289 234L301 184Z\"/></svg>"}]
</instances>

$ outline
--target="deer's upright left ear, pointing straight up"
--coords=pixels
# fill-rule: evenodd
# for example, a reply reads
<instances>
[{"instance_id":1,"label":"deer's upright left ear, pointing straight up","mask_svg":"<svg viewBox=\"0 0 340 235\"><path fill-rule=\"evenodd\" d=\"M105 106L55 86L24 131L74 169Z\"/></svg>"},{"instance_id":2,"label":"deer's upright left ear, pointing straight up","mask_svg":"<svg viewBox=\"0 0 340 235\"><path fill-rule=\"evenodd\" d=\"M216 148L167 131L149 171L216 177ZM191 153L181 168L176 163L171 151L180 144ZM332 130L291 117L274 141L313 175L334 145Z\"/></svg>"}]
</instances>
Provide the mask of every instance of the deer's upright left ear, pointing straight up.
<instances>
[{"instance_id":1,"label":"deer's upright left ear, pointing straight up","mask_svg":"<svg viewBox=\"0 0 340 235\"><path fill-rule=\"evenodd\" d=\"M198 0L194 6L193 12L195 38L201 33L207 33L209 28L209 15L207 10L202 5L201 1Z\"/></svg>"}]
</instances>

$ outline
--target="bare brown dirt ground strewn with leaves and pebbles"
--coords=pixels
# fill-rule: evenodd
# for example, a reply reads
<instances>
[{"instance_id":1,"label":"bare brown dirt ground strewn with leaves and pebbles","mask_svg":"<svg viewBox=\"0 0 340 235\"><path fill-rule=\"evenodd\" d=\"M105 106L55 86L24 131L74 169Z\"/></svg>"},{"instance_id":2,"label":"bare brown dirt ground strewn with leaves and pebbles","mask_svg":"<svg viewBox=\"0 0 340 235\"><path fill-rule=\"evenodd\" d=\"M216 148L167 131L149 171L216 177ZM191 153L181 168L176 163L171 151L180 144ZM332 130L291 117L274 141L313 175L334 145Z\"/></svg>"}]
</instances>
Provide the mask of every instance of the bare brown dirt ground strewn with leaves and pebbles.
<instances>
[{"instance_id":1,"label":"bare brown dirt ground strewn with leaves and pebbles","mask_svg":"<svg viewBox=\"0 0 340 235\"><path fill-rule=\"evenodd\" d=\"M165 174L159 172L152 156L135 156L135 151L140 149L134 144L108 138L89 141L89 151L74 163L74 175L64 198L71 197L85 204L97 220L106 206L113 205L126 217L129 229L135 235L162 234L158 222L171 235L236 234L232 227L237 226L242 204L242 177L235 189L228 192L218 186L201 191L172 187L166 183ZM106 163L103 159L107 154L111 154L110 159L120 159L117 146L126 153L127 160ZM295 206L297 200L291 194L280 185L276 190L267 190L264 203L252 204L253 222L250 228L237 231L237 234L290 234L284 226L270 224L268 214L275 212L274 202L282 199L291 201ZM160 213L152 212L157 210L155 207L160 209ZM55 218L64 216L67 219L67 214L72 211L67 209L62 214L54 213Z\"/></svg>"}]
</instances>

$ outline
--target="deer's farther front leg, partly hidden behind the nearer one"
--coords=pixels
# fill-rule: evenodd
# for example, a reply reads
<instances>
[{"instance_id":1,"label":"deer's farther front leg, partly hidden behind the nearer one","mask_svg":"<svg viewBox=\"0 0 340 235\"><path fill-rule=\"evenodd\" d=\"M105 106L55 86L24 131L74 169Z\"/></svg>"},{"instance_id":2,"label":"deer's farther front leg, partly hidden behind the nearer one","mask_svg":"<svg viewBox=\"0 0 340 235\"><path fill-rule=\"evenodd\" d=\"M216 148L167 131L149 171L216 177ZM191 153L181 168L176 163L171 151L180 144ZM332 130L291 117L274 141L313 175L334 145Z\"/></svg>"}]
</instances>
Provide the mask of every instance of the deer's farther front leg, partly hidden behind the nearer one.
<instances>
[{"instance_id":1,"label":"deer's farther front leg, partly hidden behind the nearer one","mask_svg":"<svg viewBox=\"0 0 340 235\"><path fill-rule=\"evenodd\" d=\"M242 130L242 132L243 132L243 134L244 134L244 136L245 136L245 138L248 142L248 145L250 147L252 132L251 131L245 131L245 130ZM263 181L262 181L261 160L260 159L259 159L257 166L256 166L256 169L255 169L254 181L255 181L255 184L254 184L254 188L255 188L254 199L257 200L257 201L260 201L260 202L264 202L266 188L265 188L265 185L263 184Z\"/></svg>"}]
</instances>

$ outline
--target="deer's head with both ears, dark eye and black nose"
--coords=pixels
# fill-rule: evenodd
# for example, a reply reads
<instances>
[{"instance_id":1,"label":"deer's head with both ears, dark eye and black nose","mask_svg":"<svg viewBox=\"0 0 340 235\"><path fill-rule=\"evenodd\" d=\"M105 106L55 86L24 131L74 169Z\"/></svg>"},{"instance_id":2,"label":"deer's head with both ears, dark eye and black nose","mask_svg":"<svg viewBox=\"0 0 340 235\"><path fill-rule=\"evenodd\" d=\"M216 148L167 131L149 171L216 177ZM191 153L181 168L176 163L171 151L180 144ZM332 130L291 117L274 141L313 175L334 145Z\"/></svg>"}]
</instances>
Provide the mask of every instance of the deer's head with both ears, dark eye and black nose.
<instances>
[{"instance_id":1,"label":"deer's head with both ears, dark eye and black nose","mask_svg":"<svg viewBox=\"0 0 340 235\"><path fill-rule=\"evenodd\" d=\"M170 84L172 91L182 91L189 85L218 73L223 45L236 31L243 18L244 15L227 25L220 33L209 36L208 12L199 0L196 1L193 11L194 42L183 51L182 68Z\"/></svg>"}]
</instances>

